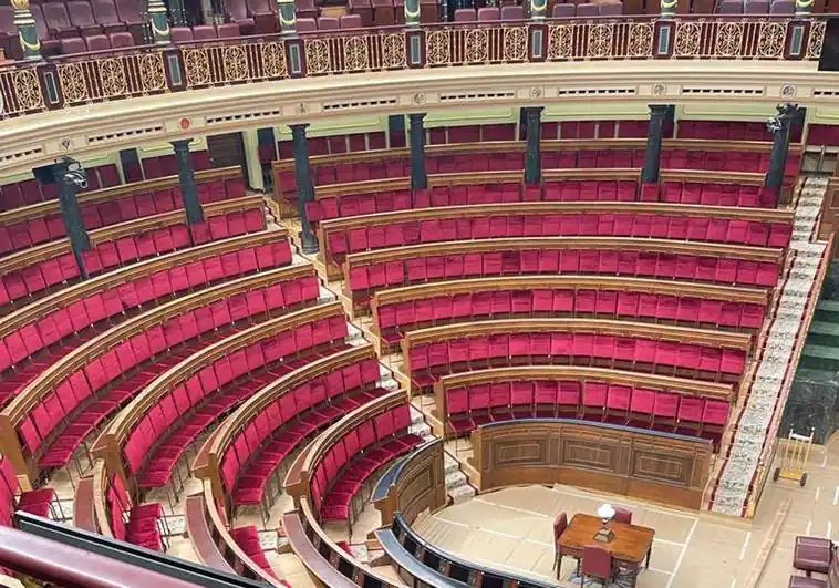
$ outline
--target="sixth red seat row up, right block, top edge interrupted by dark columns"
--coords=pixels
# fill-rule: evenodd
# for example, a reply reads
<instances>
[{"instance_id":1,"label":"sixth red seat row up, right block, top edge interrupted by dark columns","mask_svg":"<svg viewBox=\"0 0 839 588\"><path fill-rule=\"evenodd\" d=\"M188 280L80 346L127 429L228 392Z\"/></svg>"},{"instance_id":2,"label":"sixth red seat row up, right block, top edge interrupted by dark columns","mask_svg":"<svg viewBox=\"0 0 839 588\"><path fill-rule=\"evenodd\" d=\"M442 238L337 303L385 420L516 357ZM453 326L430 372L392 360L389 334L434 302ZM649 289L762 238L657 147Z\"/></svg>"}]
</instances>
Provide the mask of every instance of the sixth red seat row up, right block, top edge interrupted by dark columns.
<instances>
[{"instance_id":1,"label":"sixth red seat row up, right block, top edge interrupted by dark columns","mask_svg":"<svg viewBox=\"0 0 839 588\"><path fill-rule=\"evenodd\" d=\"M759 177L743 174L731 183L697 180L688 174L663 174L663 184L642 184L640 171L612 171L609 177L587 177L590 173L546 174L543 183L522 185L520 173L450 174L428 176L427 189L408 189L407 179L385 179L333 184L315 190L307 203L309 220L343 218L412 208L466 206L525 202L649 202L773 208L777 196L758 184ZM569 177L570 176L570 177ZM687 176L687 177L680 177ZM597 177L601 177L598 179ZM670 179L674 178L674 179Z\"/></svg>"}]
</instances>

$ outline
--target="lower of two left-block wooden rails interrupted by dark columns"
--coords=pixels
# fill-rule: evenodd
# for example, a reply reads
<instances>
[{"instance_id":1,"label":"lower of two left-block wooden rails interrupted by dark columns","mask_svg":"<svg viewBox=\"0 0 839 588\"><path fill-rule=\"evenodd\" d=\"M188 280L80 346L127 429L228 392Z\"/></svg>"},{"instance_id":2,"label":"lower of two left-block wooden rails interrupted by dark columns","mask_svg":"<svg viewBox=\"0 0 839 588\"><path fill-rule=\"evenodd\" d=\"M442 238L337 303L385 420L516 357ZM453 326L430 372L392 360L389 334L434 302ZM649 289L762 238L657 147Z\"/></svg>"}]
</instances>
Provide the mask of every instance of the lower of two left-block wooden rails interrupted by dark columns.
<instances>
[{"instance_id":1,"label":"lower of two left-block wooden rails interrupted by dark columns","mask_svg":"<svg viewBox=\"0 0 839 588\"><path fill-rule=\"evenodd\" d=\"M247 210L255 206L261 206L265 203L262 196L246 196L244 198L232 198L204 205L205 218L225 215L235 210ZM113 241L121 237L136 235L148 230L154 230L173 225L186 223L186 213L184 209L160 213L159 215L144 216L125 223L117 223L90 231L91 246L105 241ZM71 254L70 239L62 237L60 240L49 241L29 249L14 251L0 258L0 276L15 269L32 266L39 261L53 259L64 254Z\"/></svg>"}]
</instances>

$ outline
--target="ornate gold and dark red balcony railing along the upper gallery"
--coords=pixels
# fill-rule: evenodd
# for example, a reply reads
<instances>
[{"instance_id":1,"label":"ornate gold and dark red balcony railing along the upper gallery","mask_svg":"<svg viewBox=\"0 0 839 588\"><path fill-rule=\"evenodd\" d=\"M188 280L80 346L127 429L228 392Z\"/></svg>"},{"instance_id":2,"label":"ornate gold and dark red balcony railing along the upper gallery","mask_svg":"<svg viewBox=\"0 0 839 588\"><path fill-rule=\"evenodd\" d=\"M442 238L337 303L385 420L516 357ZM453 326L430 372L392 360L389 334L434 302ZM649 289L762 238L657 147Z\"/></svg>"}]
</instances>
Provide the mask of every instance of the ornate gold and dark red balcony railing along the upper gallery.
<instances>
[{"instance_id":1,"label":"ornate gold and dark red balcony railing along the upper gallery","mask_svg":"<svg viewBox=\"0 0 839 588\"><path fill-rule=\"evenodd\" d=\"M226 39L18 62L0 117L239 83L389 70L624 60L818 61L821 18L563 19Z\"/></svg>"}]
</instances>

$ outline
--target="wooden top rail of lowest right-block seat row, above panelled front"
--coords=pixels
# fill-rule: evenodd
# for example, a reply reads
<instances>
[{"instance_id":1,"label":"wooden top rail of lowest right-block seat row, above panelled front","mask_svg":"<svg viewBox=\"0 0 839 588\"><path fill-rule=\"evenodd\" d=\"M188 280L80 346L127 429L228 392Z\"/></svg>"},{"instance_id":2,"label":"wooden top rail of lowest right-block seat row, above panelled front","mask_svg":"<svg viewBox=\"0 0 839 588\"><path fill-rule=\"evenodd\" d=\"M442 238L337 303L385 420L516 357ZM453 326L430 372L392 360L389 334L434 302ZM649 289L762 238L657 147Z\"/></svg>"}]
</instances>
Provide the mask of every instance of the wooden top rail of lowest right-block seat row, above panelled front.
<instances>
[{"instance_id":1,"label":"wooden top rail of lowest right-block seat row, above panelled front","mask_svg":"<svg viewBox=\"0 0 839 588\"><path fill-rule=\"evenodd\" d=\"M463 373L444 375L434 384L434 410L432 414L444 424L444 435L449 436L453 431L446 420L448 390L488 384L493 382L536 382L546 380L562 380L584 382L595 380L609 384L628 386L641 386L645 390L666 391L683 396L723 400L733 402L736 400L736 390L731 384L716 382L702 382L686 378L659 375L653 373L635 373L625 370L608 368L589 368L582 365L520 365L515 368L493 368L488 370L473 370Z\"/></svg>"}]
</instances>

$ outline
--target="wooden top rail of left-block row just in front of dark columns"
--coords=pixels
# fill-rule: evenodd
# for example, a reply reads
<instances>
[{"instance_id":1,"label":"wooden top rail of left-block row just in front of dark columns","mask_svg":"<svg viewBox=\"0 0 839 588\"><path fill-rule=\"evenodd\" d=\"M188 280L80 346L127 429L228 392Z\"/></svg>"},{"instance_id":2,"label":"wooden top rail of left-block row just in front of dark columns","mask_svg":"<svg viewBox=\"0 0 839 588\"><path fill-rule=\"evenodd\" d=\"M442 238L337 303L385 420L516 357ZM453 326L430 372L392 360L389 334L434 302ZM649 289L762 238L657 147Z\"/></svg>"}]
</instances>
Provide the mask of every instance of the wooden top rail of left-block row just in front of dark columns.
<instances>
[{"instance_id":1,"label":"wooden top rail of left-block row just in front of dark columns","mask_svg":"<svg viewBox=\"0 0 839 588\"><path fill-rule=\"evenodd\" d=\"M251 233L249 235L240 235L239 237L230 237L198 245L180 251L173 251L170 254L165 254L159 257L107 271L89 280L70 286L69 288L64 288L61 291L40 298L34 302L7 314L3 317L3 320L0 321L0 337L4 337L22 326L33 322L53 310L66 308L76 300L82 300L93 292L106 288L113 288L141 276L151 276L156 271L184 266L205 257L214 257L219 254L237 251L239 249L265 245L276 240L284 240L287 238L288 231L284 228L279 230Z\"/></svg>"}]
</instances>

